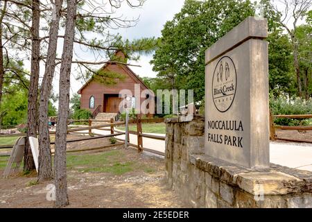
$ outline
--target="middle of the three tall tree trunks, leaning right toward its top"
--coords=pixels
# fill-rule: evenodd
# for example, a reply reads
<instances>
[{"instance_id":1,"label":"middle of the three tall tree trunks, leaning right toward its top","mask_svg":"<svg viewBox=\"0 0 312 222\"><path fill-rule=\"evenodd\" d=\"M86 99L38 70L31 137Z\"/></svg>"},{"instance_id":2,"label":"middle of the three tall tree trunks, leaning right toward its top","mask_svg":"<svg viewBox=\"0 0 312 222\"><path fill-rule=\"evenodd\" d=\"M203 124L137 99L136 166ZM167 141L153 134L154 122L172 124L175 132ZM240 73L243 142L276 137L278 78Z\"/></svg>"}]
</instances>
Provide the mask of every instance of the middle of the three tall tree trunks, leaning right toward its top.
<instances>
[{"instance_id":1,"label":"middle of the three tall tree trunks, leaning right toward its top","mask_svg":"<svg viewBox=\"0 0 312 222\"><path fill-rule=\"evenodd\" d=\"M44 78L42 80L42 87L40 93L39 103L39 172L38 180L51 180L52 173L52 160L51 160L51 147L49 135L49 96L51 93L52 80L55 71L55 58L56 49L58 46L58 28L60 26L60 11L62 8L62 0L55 0L52 15L52 22L50 25L49 33L49 47L48 55L46 58L46 67L44 71Z\"/></svg>"}]
</instances>

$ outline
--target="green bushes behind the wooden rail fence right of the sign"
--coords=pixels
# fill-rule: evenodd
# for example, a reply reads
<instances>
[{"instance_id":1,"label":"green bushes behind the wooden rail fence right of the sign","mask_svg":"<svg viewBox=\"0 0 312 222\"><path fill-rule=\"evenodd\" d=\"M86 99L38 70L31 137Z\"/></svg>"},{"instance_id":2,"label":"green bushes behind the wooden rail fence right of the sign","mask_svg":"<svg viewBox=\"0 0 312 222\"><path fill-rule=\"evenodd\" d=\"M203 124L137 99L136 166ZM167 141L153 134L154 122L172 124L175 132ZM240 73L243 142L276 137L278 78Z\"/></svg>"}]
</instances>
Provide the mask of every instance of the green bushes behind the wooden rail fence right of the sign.
<instances>
[{"instance_id":1,"label":"green bushes behind the wooden rail fence right of the sign","mask_svg":"<svg viewBox=\"0 0 312 222\"><path fill-rule=\"evenodd\" d=\"M287 115L287 114L312 114L312 99L305 100L301 98L287 98L279 96L274 98L270 94L270 110L272 114ZM275 124L281 126L307 126L311 123L311 119L290 119L290 118L275 118Z\"/></svg>"}]
</instances>

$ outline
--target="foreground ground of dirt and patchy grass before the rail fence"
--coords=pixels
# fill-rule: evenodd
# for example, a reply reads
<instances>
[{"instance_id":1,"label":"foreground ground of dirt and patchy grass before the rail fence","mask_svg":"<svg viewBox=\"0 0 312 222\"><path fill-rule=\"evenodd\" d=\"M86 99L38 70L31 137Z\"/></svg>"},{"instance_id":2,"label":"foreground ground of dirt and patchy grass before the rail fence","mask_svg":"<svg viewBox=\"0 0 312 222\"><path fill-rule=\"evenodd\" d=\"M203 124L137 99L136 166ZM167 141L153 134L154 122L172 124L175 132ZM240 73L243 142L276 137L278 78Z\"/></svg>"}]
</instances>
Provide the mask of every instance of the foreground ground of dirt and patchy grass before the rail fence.
<instances>
[{"instance_id":1,"label":"foreground ground of dirt and patchy grass before the rail fence","mask_svg":"<svg viewBox=\"0 0 312 222\"><path fill-rule=\"evenodd\" d=\"M163 161L132 148L68 154L69 207L184 207L164 185ZM46 200L51 182L36 180L36 175L1 178L0 207L53 207Z\"/></svg>"}]
</instances>

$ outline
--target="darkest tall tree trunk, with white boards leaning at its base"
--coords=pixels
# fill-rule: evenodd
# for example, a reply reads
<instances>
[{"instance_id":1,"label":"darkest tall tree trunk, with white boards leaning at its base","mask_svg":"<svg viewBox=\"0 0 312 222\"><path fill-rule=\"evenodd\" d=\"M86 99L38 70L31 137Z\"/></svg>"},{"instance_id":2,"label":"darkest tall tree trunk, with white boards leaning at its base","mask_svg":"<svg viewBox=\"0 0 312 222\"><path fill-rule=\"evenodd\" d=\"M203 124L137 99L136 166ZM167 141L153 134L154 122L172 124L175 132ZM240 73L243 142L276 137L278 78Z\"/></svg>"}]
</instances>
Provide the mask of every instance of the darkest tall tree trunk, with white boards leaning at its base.
<instances>
[{"instance_id":1,"label":"darkest tall tree trunk, with white boards leaning at its base","mask_svg":"<svg viewBox=\"0 0 312 222\"><path fill-rule=\"evenodd\" d=\"M40 74L40 0L33 0L32 9L32 49L31 49L31 85L28 92L27 137L37 137L37 93ZM26 139L24 152L24 171L35 169L31 146Z\"/></svg>"}]
</instances>

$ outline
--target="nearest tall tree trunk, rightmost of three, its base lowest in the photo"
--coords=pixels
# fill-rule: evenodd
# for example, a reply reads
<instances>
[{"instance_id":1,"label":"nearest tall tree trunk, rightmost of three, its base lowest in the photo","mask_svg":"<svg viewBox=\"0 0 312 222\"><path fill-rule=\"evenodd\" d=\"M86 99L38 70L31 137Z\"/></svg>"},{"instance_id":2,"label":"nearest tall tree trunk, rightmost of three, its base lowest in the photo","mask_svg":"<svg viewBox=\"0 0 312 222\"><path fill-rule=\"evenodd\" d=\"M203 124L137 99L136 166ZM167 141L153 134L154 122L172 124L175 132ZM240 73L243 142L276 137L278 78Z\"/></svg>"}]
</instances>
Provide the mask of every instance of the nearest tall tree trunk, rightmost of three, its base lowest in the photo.
<instances>
[{"instance_id":1,"label":"nearest tall tree trunk, rightmost of three, its base lowest in the photo","mask_svg":"<svg viewBox=\"0 0 312 222\"><path fill-rule=\"evenodd\" d=\"M58 104L58 124L55 136L55 207L69 205L66 178L66 137L69 114L69 87L71 60L73 58L73 37L75 35L76 0L67 0L67 18L60 68L60 98Z\"/></svg>"}]
</instances>

